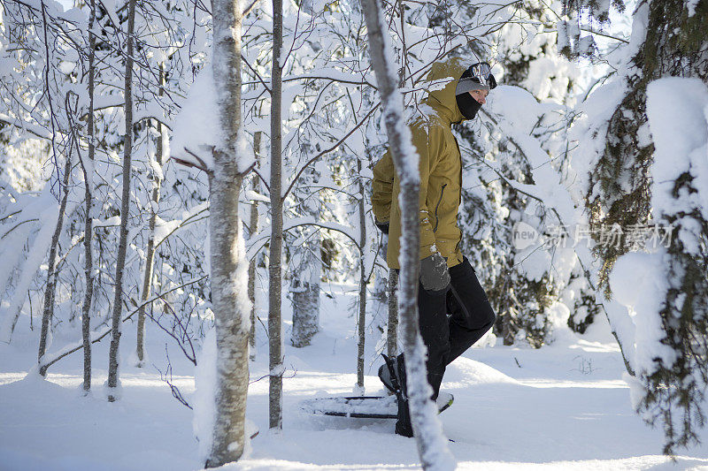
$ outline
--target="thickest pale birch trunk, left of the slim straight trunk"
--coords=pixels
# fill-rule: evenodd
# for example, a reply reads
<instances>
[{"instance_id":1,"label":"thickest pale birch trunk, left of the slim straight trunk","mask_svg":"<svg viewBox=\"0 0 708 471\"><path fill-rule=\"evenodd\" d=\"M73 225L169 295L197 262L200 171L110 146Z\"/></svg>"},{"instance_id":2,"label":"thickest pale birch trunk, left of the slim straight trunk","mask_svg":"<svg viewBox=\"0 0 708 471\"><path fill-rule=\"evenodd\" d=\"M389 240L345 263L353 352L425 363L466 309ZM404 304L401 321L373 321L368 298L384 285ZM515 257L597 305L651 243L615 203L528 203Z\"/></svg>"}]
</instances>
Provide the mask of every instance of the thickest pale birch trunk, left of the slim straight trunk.
<instances>
[{"instance_id":1,"label":"thickest pale birch trunk, left of the slim straight trunk","mask_svg":"<svg viewBox=\"0 0 708 471\"><path fill-rule=\"evenodd\" d=\"M212 68L217 91L219 135L209 172L212 309L216 321L217 385L212 450L206 467L238 460L245 446L246 393L249 383L248 262L238 213L242 162L241 2L212 0Z\"/></svg>"}]
</instances>

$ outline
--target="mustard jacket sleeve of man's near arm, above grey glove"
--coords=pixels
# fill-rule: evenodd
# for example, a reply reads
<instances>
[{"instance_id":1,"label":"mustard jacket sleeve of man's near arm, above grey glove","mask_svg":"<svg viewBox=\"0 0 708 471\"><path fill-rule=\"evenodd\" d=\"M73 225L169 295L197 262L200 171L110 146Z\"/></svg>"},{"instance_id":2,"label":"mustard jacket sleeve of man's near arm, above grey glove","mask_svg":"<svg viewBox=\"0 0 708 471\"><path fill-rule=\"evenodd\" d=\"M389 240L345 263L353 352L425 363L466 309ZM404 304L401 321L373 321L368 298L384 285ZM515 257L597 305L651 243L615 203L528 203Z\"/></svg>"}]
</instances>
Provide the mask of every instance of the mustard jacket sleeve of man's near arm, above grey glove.
<instances>
[{"instance_id":1,"label":"mustard jacket sleeve of man's near arm, above grey glove","mask_svg":"<svg viewBox=\"0 0 708 471\"><path fill-rule=\"evenodd\" d=\"M419 220L420 220L420 260L430 256L435 252L435 232L433 224L430 222L430 214L427 208L427 186L430 173L435 168L440 152L440 139L435 133L435 126L426 124L411 126L413 147L418 151L419 156Z\"/></svg>"}]
</instances>

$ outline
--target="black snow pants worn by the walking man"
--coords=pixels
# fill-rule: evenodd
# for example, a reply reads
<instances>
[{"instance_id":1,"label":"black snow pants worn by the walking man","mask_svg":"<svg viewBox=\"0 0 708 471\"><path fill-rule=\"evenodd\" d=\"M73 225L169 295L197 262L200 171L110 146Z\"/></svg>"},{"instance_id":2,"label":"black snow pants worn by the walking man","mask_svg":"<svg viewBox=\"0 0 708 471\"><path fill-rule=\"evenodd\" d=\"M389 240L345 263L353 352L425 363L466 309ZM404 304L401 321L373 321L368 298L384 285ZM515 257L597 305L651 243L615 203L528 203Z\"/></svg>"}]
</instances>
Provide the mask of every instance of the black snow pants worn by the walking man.
<instances>
[{"instance_id":1,"label":"black snow pants worn by the walking man","mask_svg":"<svg viewBox=\"0 0 708 471\"><path fill-rule=\"evenodd\" d=\"M419 283L418 311L427 346L427 382L437 399L445 367L494 325L496 315L467 257L450 268L447 292L429 292Z\"/></svg>"}]
</instances>

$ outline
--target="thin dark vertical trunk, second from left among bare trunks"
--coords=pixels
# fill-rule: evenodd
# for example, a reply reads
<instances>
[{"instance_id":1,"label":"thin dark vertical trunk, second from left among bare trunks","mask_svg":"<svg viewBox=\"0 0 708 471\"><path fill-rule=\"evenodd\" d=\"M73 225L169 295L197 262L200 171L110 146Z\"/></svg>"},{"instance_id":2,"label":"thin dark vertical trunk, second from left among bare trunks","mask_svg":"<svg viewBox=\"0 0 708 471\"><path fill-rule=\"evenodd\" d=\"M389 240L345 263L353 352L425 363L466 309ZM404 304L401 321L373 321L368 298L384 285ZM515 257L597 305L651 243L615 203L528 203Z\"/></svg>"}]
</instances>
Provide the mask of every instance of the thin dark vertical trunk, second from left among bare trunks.
<instances>
[{"instance_id":1,"label":"thin dark vertical trunk, second from left among bare trunks","mask_svg":"<svg viewBox=\"0 0 708 471\"><path fill-rule=\"evenodd\" d=\"M94 186L94 157L96 144L94 143L94 91L96 88L96 35L93 33L96 21L96 0L91 0L91 13L89 17L89 165L81 159L83 181L86 186L86 224L84 226L83 247L86 273L86 292L84 293L83 306L81 307L81 339L83 340L83 390L91 390L91 301L94 295L94 254L93 254L93 186ZM81 154L79 155L81 158Z\"/></svg>"}]
</instances>

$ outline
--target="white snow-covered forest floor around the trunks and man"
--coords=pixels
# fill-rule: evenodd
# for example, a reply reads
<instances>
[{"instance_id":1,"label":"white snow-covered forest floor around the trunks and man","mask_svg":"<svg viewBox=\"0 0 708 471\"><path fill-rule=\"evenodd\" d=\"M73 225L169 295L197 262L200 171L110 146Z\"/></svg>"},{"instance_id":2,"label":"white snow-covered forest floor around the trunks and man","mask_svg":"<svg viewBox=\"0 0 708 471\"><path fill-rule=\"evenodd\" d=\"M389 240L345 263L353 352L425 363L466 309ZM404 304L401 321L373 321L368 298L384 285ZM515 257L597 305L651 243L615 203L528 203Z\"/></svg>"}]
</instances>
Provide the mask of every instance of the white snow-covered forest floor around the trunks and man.
<instances>
[{"instance_id":1,"label":"white snow-covered forest floor around the trunks and man","mask_svg":"<svg viewBox=\"0 0 708 471\"><path fill-rule=\"evenodd\" d=\"M306 415L298 403L348 395L356 382L351 286L322 297L322 331L313 345L287 347L284 422L280 435L267 430L267 343L258 324L257 361L251 363L248 417L260 434L247 458L228 469L415 469L412 439L393 433L394 422ZM288 304L288 301L285 303ZM286 306L287 308L287 306ZM289 318L286 309L284 318ZM20 321L27 321L26 318ZM289 323L285 332L289 335ZM147 368L129 366L135 326L121 338L122 399L103 396L107 340L94 349L94 391L83 398L81 353L50 369L47 381L28 376L37 334L18 327L12 346L0 344L0 469L198 469L193 414L172 398L160 379L165 343L172 383L186 399L194 368L155 329L148 330ZM59 348L75 339L54 339ZM366 392L382 393L374 344L367 338ZM441 415L459 469L708 469L708 445L677 457L661 455L662 433L646 427L629 403L619 349L606 322L589 333L558 333L552 346L474 348L450 365L443 390L455 404ZM266 376L265 379L258 378ZM704 434L704 442L708 433Z\"/></svg>"}]
</instances>

